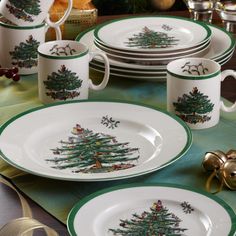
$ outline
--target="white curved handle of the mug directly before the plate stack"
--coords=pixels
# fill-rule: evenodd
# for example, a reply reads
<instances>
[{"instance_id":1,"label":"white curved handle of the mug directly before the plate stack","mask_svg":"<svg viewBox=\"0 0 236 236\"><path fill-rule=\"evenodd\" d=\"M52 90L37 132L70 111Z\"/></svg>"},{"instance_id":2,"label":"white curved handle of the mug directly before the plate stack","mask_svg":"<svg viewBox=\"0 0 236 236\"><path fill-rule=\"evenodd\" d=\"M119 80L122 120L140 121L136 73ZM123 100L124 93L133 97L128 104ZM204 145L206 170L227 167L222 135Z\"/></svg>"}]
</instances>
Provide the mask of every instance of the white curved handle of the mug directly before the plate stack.
<instances>
[{"instance_id":1,"label":"white curved handle of the mug directly before the plate stack","mask_svg":"<svg viewBox=\"0 0 236 236\"><path fill-rule=\"evenodd\" d=\"M93 81L91 79L89 79L89 88L91 88L93 90L102 90L107 86L109 76L110 76L110 63L109 63L109 60L108 60L106 54L103 53L103 52L90 52L89 55L90 55L89 61L91 61L95 56L100 56L104 60L105 72L104 72L104 77L103 77L102 82L98 85L95 85L93 83Z\"/></svg>"}]
</instances>

